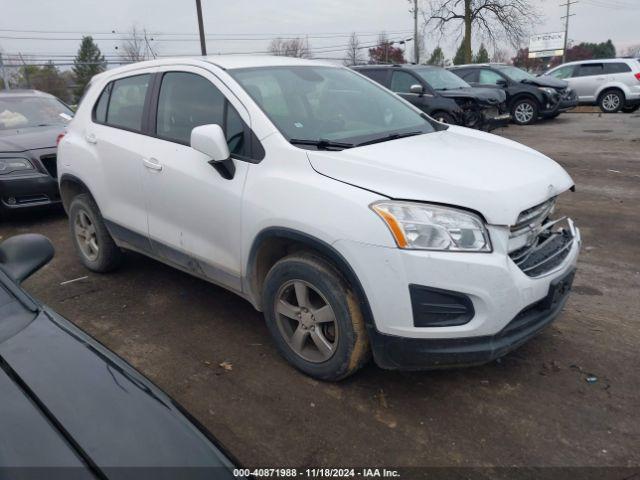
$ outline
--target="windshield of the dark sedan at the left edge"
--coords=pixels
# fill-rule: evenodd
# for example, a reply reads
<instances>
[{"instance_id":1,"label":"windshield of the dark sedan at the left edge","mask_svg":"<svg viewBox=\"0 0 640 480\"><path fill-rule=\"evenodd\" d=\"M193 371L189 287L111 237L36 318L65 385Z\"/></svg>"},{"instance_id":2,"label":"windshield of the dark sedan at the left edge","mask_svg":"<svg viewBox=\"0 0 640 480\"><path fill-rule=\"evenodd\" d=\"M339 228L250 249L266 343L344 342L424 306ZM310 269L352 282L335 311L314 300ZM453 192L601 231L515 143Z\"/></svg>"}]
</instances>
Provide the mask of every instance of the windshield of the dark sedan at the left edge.
<instances>
[{"instance_id":1,"label":"windshield of the dark sedan at the left edge","mask_svg":"<svg viewBox=\"0 0 640 480\"><path fill-rule=\"evenodd\" d=\"M65 125L73 112L53 97L0 97L0 130Z\"/></svg>"}]
</instances>

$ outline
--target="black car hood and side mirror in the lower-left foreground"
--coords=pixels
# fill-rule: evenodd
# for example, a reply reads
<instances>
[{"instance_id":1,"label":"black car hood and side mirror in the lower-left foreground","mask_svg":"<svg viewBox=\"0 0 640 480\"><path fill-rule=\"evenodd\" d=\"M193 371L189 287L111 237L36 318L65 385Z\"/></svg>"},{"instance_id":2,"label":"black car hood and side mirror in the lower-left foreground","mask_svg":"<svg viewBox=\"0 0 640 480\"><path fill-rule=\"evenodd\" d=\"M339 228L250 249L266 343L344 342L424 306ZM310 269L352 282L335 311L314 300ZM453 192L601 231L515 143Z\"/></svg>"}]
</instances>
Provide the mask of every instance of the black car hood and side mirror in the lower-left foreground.
<instances>
[{"instance_id":1,"label":"black car hood and side mirror in the lower-left foreground","mask_svg":"<svg viewBox=\"0 0 640 480\"><path fill-rule=\"evenodd\" d=\"M0 469L235 478L228 454L180 405L19 286L52 257L42 235L0 243Z\"/></svg>"}]
</instances>

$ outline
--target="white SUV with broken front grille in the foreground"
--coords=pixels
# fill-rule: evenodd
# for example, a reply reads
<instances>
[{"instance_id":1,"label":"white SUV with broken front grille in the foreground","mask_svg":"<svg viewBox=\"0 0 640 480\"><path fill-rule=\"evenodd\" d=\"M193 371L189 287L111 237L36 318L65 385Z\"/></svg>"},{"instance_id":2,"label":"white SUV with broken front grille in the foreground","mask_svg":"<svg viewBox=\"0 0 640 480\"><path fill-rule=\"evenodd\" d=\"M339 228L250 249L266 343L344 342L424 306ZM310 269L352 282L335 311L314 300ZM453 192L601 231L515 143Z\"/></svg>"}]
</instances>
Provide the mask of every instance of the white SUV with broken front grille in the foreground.
<instances>
[{"instance_id":1,"label":"white SUV with broken front grille in the foreground","mask_svg":"<svg viewBox=\"0 0 640 480\"><path fill-rule=\"evenodd\" d=\"M553 160L313 61L104 72L58 164L87 268L130 249L232 290L325 380L371 353L407 369L505 354L560 312L580 247L551 220L573 187Z\"/></svg>"}]
</instances>

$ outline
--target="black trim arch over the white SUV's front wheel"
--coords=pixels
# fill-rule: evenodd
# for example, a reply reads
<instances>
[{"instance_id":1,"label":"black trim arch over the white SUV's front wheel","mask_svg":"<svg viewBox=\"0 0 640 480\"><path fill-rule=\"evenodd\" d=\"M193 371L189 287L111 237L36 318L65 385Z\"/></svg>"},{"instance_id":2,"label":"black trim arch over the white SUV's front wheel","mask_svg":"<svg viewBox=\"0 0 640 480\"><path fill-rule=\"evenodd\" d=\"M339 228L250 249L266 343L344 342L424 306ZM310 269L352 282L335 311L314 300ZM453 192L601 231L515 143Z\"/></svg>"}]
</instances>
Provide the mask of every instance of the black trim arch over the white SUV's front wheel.
<instances>
[{"instance_id":1,"label":"black trim arch over the white SUV's front wheel","mask_svg":"<svg viewBox=\"0 0 640 480\"><path fill-rule=\"evenodd\" d=\"M330 262L358 296L367 328L375 328L369 300L347 259L324 240L284 227L268 227L262 230L254 239L249 251L243 283L258 310L262 309L261 295L267 273L278 260L296 251L315 253Z\"/></svg>"}]
</instances>

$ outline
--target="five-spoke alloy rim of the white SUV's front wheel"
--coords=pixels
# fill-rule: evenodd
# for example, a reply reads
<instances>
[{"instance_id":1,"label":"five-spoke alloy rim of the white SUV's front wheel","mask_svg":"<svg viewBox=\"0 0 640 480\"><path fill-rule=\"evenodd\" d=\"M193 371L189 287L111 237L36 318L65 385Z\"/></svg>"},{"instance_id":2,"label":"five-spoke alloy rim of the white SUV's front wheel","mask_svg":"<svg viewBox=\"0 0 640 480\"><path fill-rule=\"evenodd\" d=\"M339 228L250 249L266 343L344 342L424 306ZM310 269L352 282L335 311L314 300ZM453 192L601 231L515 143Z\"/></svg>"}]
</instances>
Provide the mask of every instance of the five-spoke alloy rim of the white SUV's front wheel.
<instances>
[{"instance_id":1,"label":"five-spoke alloy rim of the white SUV's front wheel","mask_svg":"<svg viewBox=\"0 0 640 480\"><path fill-rule=\"evenodd\" d=\"M303 280L286 282L278 290L275 318L291 350L312 363L329 360L338 346L338 323L327 299Z\"/></svg>"}]
</instances>

